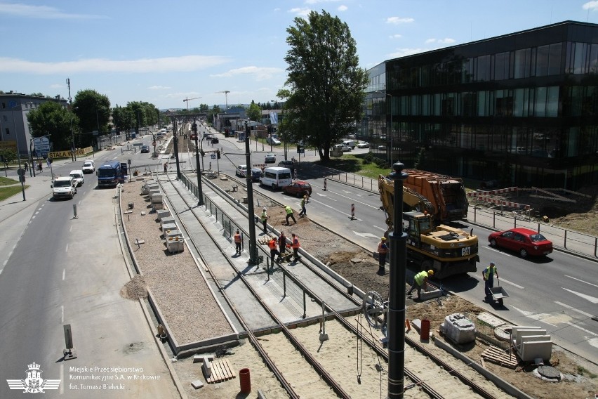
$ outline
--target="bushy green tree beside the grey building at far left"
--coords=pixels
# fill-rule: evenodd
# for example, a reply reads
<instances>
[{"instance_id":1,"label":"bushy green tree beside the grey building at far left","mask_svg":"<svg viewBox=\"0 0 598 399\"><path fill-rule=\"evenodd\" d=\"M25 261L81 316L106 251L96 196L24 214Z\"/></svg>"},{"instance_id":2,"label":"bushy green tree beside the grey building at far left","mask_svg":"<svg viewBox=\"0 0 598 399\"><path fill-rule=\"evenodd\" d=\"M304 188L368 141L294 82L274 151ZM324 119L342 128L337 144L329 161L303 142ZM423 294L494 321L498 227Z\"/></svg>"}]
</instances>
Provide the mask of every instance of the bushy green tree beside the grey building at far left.
<instances>
[{"instance_id":1,"label":"bushy green tree beside the grey building at far left","mask_svg":"<svg viewBox=\"0 0 598 399\"><path fill-rule=\"evenodd\" d=\"M71 127L79 126L79 117L55 101L46 101L27 112L29 131L33 137L50 135L54 150L70 150ZM77 144L77 140L75 140Z\"/></svg>"}]
</instances>

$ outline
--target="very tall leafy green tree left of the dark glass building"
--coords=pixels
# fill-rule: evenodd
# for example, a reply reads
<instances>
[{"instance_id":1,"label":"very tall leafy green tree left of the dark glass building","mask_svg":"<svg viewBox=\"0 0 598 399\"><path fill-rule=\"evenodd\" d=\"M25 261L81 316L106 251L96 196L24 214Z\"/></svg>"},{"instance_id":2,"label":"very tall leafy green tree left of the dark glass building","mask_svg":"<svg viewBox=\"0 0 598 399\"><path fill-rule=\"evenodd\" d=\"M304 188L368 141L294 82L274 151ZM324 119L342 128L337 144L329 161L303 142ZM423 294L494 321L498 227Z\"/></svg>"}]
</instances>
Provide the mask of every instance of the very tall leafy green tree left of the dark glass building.
<instances>
[{"instance_id":1,"label":"very tall leafy green tree left of the dark glass building","mask_svg":"<svg viewBox=\"0 0 598 399\"><path fill-rule=\"evenodd\" d=\"M331 145L361 119L368 74L358 66L355 41L338 17L312 11L294 22L286 30L288 90L277 95L286 99L279 131L315 146L327 162Z\"/></svg>"}]
</instances>

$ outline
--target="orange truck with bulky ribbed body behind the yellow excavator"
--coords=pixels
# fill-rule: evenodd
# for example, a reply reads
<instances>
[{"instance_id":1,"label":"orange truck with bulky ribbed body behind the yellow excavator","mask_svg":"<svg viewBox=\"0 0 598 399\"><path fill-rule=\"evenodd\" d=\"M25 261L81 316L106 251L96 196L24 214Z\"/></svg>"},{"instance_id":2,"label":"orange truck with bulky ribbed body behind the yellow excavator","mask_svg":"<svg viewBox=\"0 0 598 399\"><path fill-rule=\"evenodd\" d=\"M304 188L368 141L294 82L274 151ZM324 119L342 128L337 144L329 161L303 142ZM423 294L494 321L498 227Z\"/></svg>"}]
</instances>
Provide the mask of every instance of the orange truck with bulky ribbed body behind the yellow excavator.
<instances>
[{"instance_id":1,"label":"orange truck with bulky ribbed body behind the yellow excavator","mask_svg":"<svg viewBox=\"0 0 598 399\"><path fill-rule=\"evenodd\" d=\"M467 218L467 195L461 178L444 176L418 169L405 169L408 175L403 186L423 195L434 207L428 213L437 223Z\"/></svg>"}]
</instances>

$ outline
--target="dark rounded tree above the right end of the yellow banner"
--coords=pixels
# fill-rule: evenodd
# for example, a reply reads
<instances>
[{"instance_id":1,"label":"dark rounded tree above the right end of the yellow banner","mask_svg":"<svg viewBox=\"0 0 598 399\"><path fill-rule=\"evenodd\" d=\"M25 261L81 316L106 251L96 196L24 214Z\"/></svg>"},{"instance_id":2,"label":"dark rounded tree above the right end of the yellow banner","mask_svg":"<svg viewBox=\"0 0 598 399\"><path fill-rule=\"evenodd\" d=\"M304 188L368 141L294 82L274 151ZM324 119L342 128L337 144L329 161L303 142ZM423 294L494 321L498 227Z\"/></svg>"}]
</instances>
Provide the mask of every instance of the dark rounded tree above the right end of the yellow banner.
<instances>
[{"instance_id":1,"label":"dark rounded tree above the right end of the yellow banner","mask_svg":"<svg viewBox=\"0 0 598 399\"><path fill-rule=\"evenodd\" d=\"M93 131L107 130L110 117L110 100L107 96L92 89L77 92L73 100L72 112L79 117L81 135L77 140L78 145L86 147L93 143Z\"/></svg>"}]
</instances>

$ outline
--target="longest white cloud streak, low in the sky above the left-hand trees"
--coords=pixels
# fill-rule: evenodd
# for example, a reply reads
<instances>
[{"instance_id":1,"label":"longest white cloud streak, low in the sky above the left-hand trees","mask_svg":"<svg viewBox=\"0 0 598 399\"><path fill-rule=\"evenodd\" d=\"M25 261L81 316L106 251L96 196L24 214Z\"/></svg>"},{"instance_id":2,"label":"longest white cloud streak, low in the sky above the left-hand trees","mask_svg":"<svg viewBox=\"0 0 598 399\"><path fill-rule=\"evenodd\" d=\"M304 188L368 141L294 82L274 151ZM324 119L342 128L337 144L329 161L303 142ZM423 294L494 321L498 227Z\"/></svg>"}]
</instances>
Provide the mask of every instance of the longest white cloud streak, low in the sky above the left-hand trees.
<instances>
[{"instance_id":1,"label":"longest white cloud streak, low in the sky above the left-hand trees","mask_svg":"<svg viewBox=\"0 0 598 399\"><path fill-rule=\"evenodd\" d=\"M0 57L0 72L30 74L68 74L73 72L192 72L229 61L219 55L183 55L181 57L142 58L140 60L86 60L39 63L18 58Z\"/></svg>"}]
</instances>

